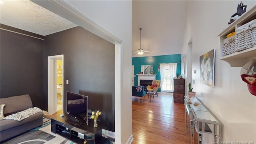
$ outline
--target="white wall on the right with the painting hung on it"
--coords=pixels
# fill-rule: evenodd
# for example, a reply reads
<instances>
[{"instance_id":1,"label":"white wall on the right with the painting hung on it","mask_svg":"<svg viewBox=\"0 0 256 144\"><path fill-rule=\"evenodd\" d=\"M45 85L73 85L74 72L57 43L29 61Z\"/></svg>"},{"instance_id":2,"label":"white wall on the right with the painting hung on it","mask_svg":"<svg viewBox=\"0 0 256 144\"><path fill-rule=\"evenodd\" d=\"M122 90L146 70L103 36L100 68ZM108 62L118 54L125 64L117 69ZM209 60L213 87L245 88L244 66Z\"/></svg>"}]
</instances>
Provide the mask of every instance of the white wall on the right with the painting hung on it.
<instances>
[{"instance_id":1,"label":"white wall on the right with the painting hung on it","mask_svg":"<svg viewBox=\"0 0 256 144\"><path fill-rule=\"evenodd\" d=\"M229 18L236 12L240 1L187 1L186 32L183 46L187 53L187 42L192 37L192 84L196 96L222 122L223 141L253 141L256 143L256 96L248 92L246 83L240 78L241 67L230 67L220 60L220 38L218 34L228 27ZM243 1L247 10L256 1ZM199 57L216 50L215 86L200 83Z\"/></svg>"}]
</instances>

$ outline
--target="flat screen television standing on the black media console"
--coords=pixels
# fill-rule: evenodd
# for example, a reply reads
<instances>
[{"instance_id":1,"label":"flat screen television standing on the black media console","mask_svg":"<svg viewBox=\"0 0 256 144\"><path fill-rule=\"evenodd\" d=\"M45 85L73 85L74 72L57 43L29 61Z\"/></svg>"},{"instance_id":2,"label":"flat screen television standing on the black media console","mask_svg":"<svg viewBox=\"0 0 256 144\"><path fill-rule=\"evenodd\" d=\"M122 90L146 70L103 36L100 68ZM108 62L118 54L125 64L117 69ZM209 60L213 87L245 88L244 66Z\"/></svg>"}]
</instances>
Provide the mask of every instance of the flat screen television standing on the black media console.
<instances>
[{"instance_id":1,"label":"flat screen television standing on the black media console","mask_svg":"<svg viewBox=\"0 0 256 144\"><path fill-rule=\"evenodd\" d=\"M72 117L67 122L88 125L88 96L67 91L67 114Z\"/></svg>"}]
</instances>

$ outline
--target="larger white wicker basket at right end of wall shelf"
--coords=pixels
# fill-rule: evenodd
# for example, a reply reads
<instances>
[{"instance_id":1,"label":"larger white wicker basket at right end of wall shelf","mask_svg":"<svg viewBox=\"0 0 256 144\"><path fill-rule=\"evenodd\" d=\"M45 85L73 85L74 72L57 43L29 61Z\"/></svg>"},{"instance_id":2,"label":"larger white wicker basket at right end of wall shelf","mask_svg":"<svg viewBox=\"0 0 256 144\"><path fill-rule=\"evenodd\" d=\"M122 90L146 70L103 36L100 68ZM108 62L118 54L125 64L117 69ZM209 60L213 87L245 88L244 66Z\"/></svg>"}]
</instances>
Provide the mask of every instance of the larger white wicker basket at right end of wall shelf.
<instances>
[{"instance_id":1,"label":"larger white wicker basket at right end of wall shelf","mask_svg":"<svg viewBox=\"0 0 256 144\"><path fill-rule=\"evenodd\" d=\"M256 46L256 19L236 28L236 52Z\"/></svg>"}]
</instances>

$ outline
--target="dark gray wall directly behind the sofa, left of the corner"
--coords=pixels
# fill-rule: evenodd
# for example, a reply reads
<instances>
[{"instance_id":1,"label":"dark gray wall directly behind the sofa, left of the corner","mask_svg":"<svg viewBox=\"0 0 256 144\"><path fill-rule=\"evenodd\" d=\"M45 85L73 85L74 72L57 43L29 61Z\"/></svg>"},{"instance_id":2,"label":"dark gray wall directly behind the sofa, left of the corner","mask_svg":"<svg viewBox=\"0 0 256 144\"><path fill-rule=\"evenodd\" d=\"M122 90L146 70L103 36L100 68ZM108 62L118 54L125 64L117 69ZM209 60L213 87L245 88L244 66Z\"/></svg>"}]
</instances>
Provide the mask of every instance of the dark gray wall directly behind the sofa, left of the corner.
<instances>
[{"instance_id":1,"label":"dark gray wall directly behind the sofa, left of the corner","mask_svg":"<svg viewBox=\"0 0 256 144\"><path fill-rule=\"evenodd\" d=\"M43 109L43 41L0 30L0 98L29 94Z\"/></svg>"}]
</instances>

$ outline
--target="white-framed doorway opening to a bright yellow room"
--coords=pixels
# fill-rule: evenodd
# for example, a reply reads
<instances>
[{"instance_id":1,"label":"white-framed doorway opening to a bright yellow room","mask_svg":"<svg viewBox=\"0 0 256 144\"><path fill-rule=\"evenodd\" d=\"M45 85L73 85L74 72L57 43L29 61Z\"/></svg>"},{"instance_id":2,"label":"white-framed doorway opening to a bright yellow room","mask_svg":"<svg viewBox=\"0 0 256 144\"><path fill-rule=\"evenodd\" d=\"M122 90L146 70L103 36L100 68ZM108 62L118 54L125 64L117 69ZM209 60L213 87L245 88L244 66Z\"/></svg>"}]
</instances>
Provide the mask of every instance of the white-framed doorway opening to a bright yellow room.
<instances>
[{"instance_id":1,"label":"white-framed doorway opening to a bright yellow room","mask_svg":"<svg viewBox=\"0 0 256 144\"><path fill-rule=\"evenodd\" d=\"M48 115L63 113L64 55L48 56Z\"/></svg>"}]
</instances>

